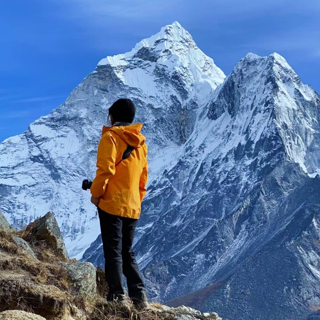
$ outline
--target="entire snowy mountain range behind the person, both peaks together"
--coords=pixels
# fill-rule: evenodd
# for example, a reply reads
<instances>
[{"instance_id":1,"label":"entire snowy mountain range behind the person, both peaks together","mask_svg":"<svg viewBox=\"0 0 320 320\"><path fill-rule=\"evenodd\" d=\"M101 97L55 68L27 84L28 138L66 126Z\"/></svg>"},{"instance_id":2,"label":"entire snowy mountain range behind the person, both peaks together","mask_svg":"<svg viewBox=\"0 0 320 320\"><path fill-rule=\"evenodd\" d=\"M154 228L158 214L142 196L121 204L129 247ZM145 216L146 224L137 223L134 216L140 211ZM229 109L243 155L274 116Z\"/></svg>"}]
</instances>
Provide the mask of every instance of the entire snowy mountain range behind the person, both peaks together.
<instances>
[{"instance_id":1,"label":"entire snowy mountain range behind the person, both peaks together","mask_svg":"<svg viewBox=\"0 0 320 320\"><path fill-rule=\"evenodd\" d=\"M225 78L178 22L102 59L60 107L0 144L8 220L50 209L69 255L104 263L81 181L121 97L135 102L149 150L134 246L149 297L230 320L320 310L320 97L277 53L249 53Z\"/></svg>"}]
</instances>

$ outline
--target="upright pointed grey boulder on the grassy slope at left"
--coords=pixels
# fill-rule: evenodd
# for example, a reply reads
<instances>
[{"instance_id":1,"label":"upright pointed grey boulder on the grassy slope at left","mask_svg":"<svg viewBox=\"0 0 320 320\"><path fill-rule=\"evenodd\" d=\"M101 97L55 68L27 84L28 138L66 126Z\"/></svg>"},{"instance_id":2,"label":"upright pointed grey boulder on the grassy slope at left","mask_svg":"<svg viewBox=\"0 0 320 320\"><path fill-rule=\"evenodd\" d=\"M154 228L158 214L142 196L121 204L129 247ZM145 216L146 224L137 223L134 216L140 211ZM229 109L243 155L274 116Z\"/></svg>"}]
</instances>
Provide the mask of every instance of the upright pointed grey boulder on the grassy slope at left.
<instances>
[{"instance_id":1,"label":"upright pointed grey boulder on the grassy slope at left","mask_svg":"<svg viewBox=\"0 0 320 320\"><path fill-rule=\"evenodd\" d=\"M44 240L58 257L69 259L57 220L51 211L34 222L30 236Z\"/></svg>"}]
</instances>

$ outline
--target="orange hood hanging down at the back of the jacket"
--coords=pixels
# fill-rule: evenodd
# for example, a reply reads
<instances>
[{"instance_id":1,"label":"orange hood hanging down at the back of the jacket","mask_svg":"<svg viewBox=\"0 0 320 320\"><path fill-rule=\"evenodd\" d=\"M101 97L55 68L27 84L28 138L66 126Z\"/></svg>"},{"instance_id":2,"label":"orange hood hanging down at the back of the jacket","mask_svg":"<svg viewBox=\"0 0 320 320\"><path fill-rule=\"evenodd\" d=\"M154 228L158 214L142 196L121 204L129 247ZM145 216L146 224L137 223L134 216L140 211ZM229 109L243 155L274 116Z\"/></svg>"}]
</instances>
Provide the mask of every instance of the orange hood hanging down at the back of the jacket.
<instances>
[{"instance_id":1,"label":"orange hood hanging down at the back of the jacket","mask_svg":"<svg viewBox=\"0 0 320 320\"><path fill-rule=\"evenodd\" d=\"M146 141L146 137L140 132L141 129L142 123L114 125L112 127L103 126L102 135L107 131L113 131L129 146L140 148Z\"/></svg>"}]
</instances>

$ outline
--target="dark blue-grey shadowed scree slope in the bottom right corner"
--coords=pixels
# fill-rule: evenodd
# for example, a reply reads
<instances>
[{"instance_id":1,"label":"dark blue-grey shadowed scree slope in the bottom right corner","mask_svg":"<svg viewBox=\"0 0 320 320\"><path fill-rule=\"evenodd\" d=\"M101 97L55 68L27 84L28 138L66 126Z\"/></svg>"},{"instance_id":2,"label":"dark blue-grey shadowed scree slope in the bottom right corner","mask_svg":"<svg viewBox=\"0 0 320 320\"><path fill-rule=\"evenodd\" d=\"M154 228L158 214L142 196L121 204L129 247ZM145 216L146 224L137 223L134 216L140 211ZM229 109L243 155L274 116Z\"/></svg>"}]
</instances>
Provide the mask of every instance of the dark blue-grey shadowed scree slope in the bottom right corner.
<instances>
[{"instance_id":1,"label":"dark blue-grey shadowed scree slope in the bottom right corner","mask_svg":"<svg viewBox=\"0 0 320 320\"><path fill-rule=\"evenodd\" d=\"M290 196L283 193L286 185L294 186ZM228 319L312 319L320 292L319 176L308 178L297 166L281 166L260 190L263 194L244 211L246 222L237 237L245 248L238 246L228 264L218 272L212 270L216 272L213 279L222 281L168 305L212 308ZM264 216L262 208L271 199L272 206ZM263 223L259 222L262 216ZM219 229L225 228L230 218L221 221Z\"/></svg>"}]
</instances>

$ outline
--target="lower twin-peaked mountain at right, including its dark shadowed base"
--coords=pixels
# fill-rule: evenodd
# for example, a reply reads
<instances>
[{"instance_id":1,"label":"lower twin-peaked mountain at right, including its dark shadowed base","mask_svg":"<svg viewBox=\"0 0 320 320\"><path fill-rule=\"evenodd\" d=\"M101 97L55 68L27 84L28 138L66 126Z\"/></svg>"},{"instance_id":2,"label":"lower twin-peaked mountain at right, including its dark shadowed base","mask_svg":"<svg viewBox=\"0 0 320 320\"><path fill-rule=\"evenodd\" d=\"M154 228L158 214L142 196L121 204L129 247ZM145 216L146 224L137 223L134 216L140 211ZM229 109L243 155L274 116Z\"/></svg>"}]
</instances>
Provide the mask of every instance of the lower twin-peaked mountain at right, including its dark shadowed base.
<instances>
[{"instance_id":1,"label":"lower twin-peaked mountain at right, including its dark shadowed base","mask_svg":"<svg viewBox=\"0 0 320 320\"><path fill-rule=\"evenodd\" d=\"M148 188L135 252L150 296L199 290L171 304L228 319L320 307L319 111L277 53L236 64ZM102 263L99 245L84 259Z\"/></svg>"}]
</instances>

